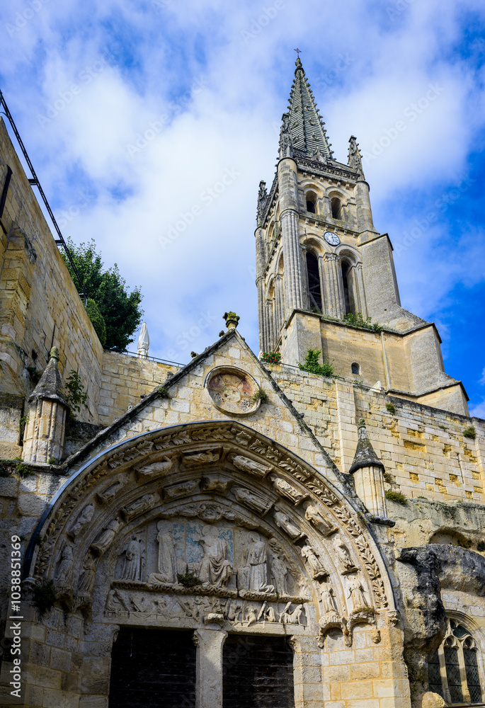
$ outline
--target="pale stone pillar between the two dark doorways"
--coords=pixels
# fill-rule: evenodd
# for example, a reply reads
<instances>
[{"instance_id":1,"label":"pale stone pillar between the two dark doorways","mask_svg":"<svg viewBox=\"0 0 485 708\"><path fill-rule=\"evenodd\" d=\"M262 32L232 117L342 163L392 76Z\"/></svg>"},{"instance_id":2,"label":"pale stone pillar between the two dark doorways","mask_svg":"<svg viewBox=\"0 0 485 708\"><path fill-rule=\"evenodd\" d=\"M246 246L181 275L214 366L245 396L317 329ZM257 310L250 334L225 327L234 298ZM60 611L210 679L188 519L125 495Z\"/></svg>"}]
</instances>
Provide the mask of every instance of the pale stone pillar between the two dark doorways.
<instances>
[{"instance_id":1,"label":"pale stone pillar between the two dark doorways","mask_svg":"<svg viewBox=\"0 0 485 708\"><path fill-rule=\"evenodd\" d=\"M197 646L196 708L222 708L222 646L227 632L222 629L196 629Z\"/></svg>"}]
</instances>

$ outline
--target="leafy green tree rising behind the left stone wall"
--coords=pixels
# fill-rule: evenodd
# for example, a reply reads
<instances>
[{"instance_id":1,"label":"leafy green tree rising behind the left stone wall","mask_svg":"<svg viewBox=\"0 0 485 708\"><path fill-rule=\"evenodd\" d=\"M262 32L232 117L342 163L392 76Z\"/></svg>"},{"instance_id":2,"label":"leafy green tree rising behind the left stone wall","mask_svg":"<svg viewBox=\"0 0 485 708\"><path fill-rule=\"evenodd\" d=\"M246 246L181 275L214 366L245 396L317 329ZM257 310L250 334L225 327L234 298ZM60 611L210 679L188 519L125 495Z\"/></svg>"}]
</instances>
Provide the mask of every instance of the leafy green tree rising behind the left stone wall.
<instances>
[{"instance_id":1,"label":"leafy green tree rising behind the left stone wall","mask_svg":"<svg viewBox=\"0 0 485 708\"><path fill-rule=\"evenodd\" d=\"M103 346L118 352L126 351L127 346L134 341L132 335L142 319L143 310L140 307L142 294L139 287L128 292L126 281L121 277L116 263L112 268L105 269L101 253L96 253L96 244L93 239L89 243L79 244L79 246L75 246L68 239L67 245L71 251L72 260L79 270L79 275L83 279L86 295L94 300L98 313L104 320L106 338L105 343L102 342ZM77 285L76 275L64 253L62 253L62 257ZM94 328L98 327L102 331L101 320L98 314L95 315L93 306L89 305L87 309ZM97 320L96 324L95 319Z\"/></svg>"}]
</instances>

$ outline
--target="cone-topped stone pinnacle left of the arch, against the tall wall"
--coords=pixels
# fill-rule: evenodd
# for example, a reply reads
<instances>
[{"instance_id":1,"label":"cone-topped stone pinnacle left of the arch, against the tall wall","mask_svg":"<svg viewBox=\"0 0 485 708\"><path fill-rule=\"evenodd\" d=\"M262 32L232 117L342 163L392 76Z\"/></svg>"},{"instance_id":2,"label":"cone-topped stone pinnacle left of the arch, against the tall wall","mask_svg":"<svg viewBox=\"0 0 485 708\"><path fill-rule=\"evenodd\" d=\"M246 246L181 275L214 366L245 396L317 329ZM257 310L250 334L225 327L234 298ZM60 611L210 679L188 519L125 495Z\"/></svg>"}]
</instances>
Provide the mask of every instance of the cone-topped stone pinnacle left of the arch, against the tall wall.
<instances>
[{"instance_id":1,"label":"cone-topped stone pinnacle left of the arch, against the tall wall","mask_svg":"<svg viewBox=\"0 0 485 708\"><path fill-rule=\"evenodd\" d=\"M62 392L58 362L59 350L52 347L49 362L28 399L28 423L22 455L24 462L59 462L64 452L69 406Z\"/></svg>"}]
</instances>

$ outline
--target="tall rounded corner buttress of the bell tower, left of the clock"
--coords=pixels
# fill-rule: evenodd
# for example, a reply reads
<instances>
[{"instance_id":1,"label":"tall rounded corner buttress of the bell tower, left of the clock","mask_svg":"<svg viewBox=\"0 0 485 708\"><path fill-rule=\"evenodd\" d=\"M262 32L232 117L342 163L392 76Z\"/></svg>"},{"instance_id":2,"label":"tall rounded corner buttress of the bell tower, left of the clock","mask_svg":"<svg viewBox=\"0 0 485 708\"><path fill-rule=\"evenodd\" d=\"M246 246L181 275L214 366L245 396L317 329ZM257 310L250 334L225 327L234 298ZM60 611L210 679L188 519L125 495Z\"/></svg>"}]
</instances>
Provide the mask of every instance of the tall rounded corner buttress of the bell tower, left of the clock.
<instances>
[{"instance_id":1,"label":"tall rounded corner buttress of the bell tower, left of the clock","mask_svg":"<svg viewBox=\"0 0 485 708\"><path fill-rule=\"evenodd\" d=\"M280 223L285 269L285 317L303 307L302 249L299 244L297 165L286 157L278 163Z\"/></svg>"}]
</instances>

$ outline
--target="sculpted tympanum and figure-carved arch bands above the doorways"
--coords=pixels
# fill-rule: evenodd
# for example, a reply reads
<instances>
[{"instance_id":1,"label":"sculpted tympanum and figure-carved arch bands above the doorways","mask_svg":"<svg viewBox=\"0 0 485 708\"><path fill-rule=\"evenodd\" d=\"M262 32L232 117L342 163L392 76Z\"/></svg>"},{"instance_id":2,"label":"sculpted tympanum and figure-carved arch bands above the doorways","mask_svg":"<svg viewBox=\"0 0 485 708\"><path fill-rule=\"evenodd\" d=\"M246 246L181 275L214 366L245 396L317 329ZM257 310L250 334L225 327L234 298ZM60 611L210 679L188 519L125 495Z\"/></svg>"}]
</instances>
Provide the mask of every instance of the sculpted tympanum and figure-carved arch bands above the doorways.
<instances>
[{"instance_id":1,"label":"sculpted tympanum and figure-carved arch bands above the doorways","mask_svg":"<svg viewBox=\"0 0 485 708\"><path fill-rule=\"evenodd\" d=\"M111 564L105 612L163 614L177 595L206 598L194 599L200 617L291 624L312 599L348 624L362 607L387 607L358 518L305 463L234 421L148 435L69 486L35 549L36 577L88 602L98 565ZM157 611L142 610L153 598ZM214 598L223 612L208 612Z\"/></svg>"}]
</instances>

